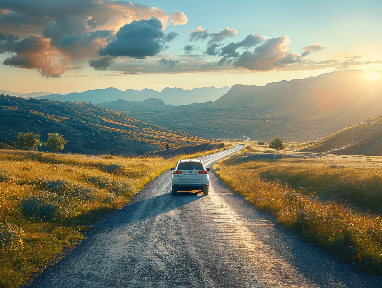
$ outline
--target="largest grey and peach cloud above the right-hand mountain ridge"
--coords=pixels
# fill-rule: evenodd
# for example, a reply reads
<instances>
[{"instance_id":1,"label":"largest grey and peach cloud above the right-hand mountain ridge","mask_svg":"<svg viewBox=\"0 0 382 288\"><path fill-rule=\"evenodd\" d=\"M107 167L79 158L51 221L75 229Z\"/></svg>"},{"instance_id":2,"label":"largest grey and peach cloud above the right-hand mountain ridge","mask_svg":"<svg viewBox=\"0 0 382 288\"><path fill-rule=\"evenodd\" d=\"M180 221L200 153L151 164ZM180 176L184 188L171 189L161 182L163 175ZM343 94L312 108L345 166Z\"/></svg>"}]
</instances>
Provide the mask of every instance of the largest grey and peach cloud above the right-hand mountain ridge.
<instances>
[{"instance_id":1,"label":"largest grey and peach cloud above the right-hand mountain ridge","mask_svg":"<svg viewBox=\"0 0 382 288\"><path fill-rule=\"evenodd\" d=\"M267 39L262 45L257 46L253 52L244 51L235 60L233 66L251 71L279 71L286 65L299 61L297 53L288 53L290 43L288 36Z\"/></svg>"}]
</instances>

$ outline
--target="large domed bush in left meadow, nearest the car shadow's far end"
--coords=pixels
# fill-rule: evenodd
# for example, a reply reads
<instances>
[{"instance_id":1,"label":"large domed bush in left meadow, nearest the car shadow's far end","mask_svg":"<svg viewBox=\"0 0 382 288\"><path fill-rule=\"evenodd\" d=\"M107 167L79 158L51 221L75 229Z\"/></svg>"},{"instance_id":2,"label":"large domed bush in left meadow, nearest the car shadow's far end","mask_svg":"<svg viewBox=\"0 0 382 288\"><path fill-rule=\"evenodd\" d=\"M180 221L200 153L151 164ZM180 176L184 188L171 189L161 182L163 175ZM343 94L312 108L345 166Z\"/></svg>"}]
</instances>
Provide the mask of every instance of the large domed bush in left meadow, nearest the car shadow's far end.
<instances>
[{"instance_id":1,"label":"large domed bush in left meadow, nearest the car shadow's far end","mask_svg":"<svg viewBox=\"0 0 382 288\"><path fill-rule=\"evenodd\" d=\"M59 221L71 218L75 210L63 196L43 191L39 196L29 195L21 201L23 214L41 221Z\"/></svg>"}]
</instances>

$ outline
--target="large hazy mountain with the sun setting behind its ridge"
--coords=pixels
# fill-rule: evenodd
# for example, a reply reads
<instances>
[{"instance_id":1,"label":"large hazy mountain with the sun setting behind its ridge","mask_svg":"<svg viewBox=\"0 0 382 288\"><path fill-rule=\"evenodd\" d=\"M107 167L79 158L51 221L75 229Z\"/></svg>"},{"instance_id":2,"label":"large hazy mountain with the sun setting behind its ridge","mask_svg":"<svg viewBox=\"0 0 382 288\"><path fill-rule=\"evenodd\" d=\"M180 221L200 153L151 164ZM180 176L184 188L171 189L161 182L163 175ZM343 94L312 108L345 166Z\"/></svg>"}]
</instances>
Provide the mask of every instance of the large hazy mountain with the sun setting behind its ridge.
<instances>
[{"instance_id":1,"label":"large hazy mountain with the sun setting behind its ridge","mask_svg":"<svg viewBox=\"0 0 382 288\"><path fill-rule=\"evenodd\" d=\"M212 103L166 106L149 112L127 107L125 111L135 119L208 138L240 138L214 131L225 130L253 140L283 137L286 141L313 141L317 138L302 130L324 138L382 113L382 73L377 73L379 78L374 80L363 70L348 70L265 86L234 85ZM123 105L100 105L121 112L124 109Z\"/></svg>"}]
</instances>

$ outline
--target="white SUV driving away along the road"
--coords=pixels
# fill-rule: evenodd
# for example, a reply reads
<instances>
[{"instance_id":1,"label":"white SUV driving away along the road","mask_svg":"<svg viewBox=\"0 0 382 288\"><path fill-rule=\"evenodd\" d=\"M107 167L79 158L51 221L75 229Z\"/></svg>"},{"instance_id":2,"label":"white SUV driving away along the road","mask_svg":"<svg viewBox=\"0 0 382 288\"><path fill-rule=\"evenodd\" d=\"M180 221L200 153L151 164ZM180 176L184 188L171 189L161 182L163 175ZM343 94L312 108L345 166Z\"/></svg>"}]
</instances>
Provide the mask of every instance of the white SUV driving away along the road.
<instances>
[{"instance_id":1,"label":"white SUV driving away along the road","mask_svg":"<svg viewBox=\"0 0 382 288\"><path fill-rule=\"evenodd\" d=\"M202 160L199 159L181 159L171 176L172 195L176 195L178 190L201 190L203 195L208 195L210 168L204 168Z\"/></svg>"}]
</instances>

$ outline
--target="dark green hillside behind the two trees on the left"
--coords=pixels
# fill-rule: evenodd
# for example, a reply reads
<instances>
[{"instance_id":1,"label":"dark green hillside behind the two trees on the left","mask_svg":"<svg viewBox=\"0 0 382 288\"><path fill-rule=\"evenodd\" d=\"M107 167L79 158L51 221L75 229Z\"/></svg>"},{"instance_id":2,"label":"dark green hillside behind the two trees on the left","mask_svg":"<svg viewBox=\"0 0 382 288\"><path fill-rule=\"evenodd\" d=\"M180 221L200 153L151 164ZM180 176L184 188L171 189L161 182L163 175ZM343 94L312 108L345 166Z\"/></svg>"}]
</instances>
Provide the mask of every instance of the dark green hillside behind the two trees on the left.
<instances>
[{"instance_id":1,"label":"dark green hillside behind the two trees on the left","mask_svg":"<svg viewBox=\"0 0 382 288\"><path fill-rule=\"evenodd\" d=\"M0 142L15 146L19 132L62 134L63 153L136 156L170 147L207 142L180 130L168 130L87 103L0 97ZM41 146L39 150L46 150Z\"/></svg>"}]
</instances>

